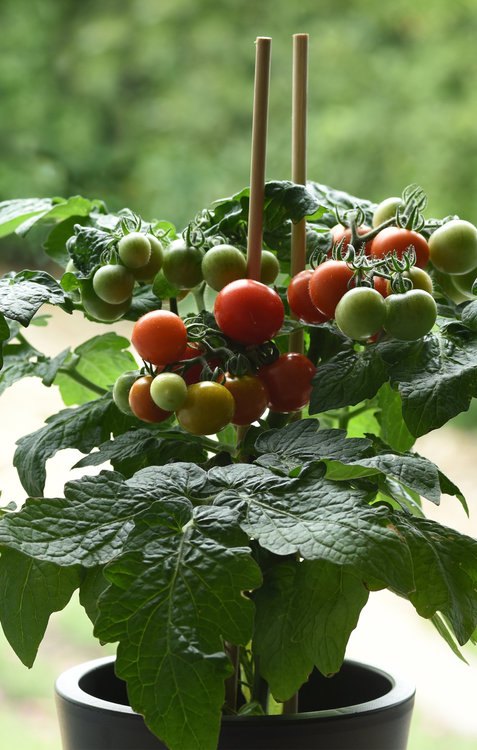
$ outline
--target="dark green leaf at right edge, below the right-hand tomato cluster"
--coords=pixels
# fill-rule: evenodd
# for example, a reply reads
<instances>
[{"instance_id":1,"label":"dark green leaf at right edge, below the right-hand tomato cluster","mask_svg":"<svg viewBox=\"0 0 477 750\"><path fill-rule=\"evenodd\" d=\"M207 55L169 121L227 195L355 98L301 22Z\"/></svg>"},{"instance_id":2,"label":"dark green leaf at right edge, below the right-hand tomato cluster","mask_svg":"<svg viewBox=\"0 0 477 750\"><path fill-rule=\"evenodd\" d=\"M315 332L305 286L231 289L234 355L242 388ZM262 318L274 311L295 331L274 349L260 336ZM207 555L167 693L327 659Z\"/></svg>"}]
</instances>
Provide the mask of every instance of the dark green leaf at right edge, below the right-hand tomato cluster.
<instances>
[{"instance_id":1,"label":"dark green leaf at right edge, below the right-hand tomato cluster","mask_svg":"<svg viewBox=\"0 0 477 750\"><path fill-rule=\"evenodd\" d=\"M477 334L468 329L452 328L418 341L383 342L377 348L415 437L466 411L477 396Z\"/></svg>"}]
</instances>

